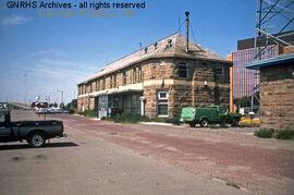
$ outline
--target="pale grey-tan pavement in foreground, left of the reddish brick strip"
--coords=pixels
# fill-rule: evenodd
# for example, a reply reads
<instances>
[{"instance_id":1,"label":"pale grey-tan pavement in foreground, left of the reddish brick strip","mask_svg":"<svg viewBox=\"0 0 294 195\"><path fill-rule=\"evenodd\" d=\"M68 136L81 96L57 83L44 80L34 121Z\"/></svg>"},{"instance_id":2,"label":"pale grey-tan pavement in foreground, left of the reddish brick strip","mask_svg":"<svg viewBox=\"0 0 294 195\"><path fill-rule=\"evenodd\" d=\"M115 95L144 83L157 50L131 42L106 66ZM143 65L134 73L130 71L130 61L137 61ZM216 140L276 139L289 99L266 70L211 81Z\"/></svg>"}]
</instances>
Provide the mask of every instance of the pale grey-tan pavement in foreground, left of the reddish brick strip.
<instances>
[{"instance_id":1,"label":"pale grey-tan pavement in foreground, left of the reddish brick strip","mask_svg":"<svg viewBox=\"0 0 294 195\"><path fill-rule=\"evenodd\" d=\"M248 194L233 184L194 174L113 144L103 137L103 132L93 132L93 125L100 130L100 125L109 124L75 115L57 114L47 119L52 117L64 121L69 137L51 139L42 148L32 148L26 143L0 144L1 195ZM12 118L41 119L21 110L13 111ZM118 131L121 126L112 127ZM121 131L127 132L125 127Z\"/></svg>"}]
</instances>

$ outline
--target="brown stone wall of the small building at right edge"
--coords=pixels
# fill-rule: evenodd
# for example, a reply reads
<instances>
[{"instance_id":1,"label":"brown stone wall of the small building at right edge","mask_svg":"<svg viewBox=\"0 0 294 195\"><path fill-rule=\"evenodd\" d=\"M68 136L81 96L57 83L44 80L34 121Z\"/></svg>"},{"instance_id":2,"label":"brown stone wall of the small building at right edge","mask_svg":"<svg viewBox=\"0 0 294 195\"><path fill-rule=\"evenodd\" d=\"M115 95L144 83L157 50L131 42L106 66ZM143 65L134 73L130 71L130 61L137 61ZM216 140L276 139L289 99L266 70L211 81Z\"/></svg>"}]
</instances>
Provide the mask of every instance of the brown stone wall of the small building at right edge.
<instances>
[{"instance_id":1,"label":"brown stone wall of the small building at right edge","mask_svg":"<svg viewBox=\"0 0 294 195\"><path fill-rule=\"evenodd\" d=\"M294 64L260 70L261 127L294 129Z\"/></svg>"}]
</instances>

